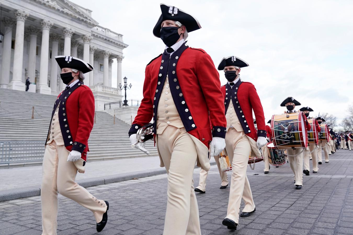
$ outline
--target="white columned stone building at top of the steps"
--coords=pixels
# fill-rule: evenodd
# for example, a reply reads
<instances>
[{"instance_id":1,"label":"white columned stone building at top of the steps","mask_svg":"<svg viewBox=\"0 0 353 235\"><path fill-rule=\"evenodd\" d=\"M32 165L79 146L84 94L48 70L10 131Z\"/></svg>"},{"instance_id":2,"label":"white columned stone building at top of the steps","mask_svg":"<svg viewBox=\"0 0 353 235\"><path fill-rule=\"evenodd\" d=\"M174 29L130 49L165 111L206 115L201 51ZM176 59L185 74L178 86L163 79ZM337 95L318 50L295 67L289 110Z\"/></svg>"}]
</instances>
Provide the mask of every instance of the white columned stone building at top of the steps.
<instances>
[{"instance_id":1,"label":"white columned stone building at top of the steps","mask_svg":"<svg viewBox=\"0 0 353 235\"><path fill-rule=\"evenodd\" d=\"M91 17L92 11L67 0L0 0L0 88L58 95L65 84L54 57L71 55L92 64L85 74L96 99L96 110L104 103L121 100L121 90L112 80L123 84L122 50L128 45L122 35ZM112 78L116 60L117 77Z\"/></svg>"}]
</instances>

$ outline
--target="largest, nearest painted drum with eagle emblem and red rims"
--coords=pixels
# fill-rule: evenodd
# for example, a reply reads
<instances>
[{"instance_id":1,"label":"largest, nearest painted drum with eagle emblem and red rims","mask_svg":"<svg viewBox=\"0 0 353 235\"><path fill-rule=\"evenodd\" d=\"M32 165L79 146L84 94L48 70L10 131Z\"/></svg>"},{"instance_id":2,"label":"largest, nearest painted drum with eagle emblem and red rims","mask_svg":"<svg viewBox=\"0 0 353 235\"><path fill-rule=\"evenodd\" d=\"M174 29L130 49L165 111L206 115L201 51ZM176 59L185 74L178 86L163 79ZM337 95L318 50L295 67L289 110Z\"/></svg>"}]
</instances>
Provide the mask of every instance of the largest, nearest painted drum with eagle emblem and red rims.
<instances>
[{"instance_id":1,"label":"largest, nearest painted drum with eagle emblem and red rims","mask_svg":"<svg viewBox=\"0 0 353 235\"><path fill-rule=\"evenodd\" d=\"M271 118L276 149L307 148L307 130L303 112L275 114Z\"/></svg>"}]
</instances>

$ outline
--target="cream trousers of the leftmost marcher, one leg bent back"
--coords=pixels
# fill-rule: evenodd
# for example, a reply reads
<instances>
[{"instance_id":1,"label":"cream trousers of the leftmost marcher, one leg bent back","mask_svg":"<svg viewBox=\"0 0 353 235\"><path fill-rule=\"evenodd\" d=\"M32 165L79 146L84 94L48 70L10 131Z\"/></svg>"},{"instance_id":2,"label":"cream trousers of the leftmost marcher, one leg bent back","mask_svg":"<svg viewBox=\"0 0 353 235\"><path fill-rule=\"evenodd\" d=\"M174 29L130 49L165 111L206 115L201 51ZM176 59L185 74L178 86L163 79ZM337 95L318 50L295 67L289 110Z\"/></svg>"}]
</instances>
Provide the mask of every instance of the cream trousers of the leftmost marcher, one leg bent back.
<instances>
[{"instance_id":1,"label":"cream trousers of the leftmost marcher, one leg bent back","mask_svg":"<svg viewBox=\"0 0 353 235\"><path fill-rule=\"evenodd\" d=\"M85 208L91 210L99 223L107 211L104 200L92 196L84 187L75 182L77 168L67 161L70 153L64 145L55 141L47 144L43 159L43 178L41 187L42 235L56 234L58 228L58 192Z\"/></svg>"}]
</instances>

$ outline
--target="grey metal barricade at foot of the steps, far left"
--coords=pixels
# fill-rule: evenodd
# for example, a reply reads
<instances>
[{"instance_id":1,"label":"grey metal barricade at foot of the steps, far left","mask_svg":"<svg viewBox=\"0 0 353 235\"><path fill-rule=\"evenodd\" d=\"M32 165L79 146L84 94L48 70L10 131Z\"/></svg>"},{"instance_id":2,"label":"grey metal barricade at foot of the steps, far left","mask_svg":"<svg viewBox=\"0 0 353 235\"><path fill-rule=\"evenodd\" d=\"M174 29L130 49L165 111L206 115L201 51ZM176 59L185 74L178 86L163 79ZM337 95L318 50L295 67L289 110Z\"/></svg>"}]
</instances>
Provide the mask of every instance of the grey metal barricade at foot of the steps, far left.
<instances>
[{"instance_id":1,"label":"grey metal barricade at foot of the steps, far left","mask_svg":"<svg viewBox=\"0 0 353 235\"><path fill-rule=\"evenodd\" d=\"M0 142L0 165L42 162L44 150L43 141Z\"/></svg>"}]
</instances>

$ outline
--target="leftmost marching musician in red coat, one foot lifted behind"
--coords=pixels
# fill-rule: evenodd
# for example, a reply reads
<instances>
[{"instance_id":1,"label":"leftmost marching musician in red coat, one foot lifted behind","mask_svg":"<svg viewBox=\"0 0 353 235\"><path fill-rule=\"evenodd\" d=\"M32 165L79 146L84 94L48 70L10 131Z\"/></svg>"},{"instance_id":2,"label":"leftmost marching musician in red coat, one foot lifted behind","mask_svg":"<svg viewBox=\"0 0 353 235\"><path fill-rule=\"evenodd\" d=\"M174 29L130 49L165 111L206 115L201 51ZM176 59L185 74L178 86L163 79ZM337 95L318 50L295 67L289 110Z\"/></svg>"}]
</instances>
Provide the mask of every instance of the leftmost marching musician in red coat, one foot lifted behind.
<instances>
[{"instance_id":1,"label":"leftmost marching musician in red coat, one foot lifted behind","mask_svg":"<svg viewBox=\"0 0 353 235\"><path fill-rule=\"evenodd\" d=\"M91 89L83 85L83 74L94 68L72 56L55 56L55 60L61 68L61 80L67 86L55 101L46 139L41 187L42 234L56 234L58 192L91 210L100 232L107 223L109 203L75 182L77 171L85 171L87 142L94 121L94 97Z\"/></svg>"}]
</instances>

